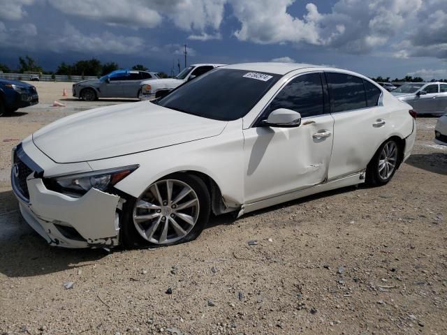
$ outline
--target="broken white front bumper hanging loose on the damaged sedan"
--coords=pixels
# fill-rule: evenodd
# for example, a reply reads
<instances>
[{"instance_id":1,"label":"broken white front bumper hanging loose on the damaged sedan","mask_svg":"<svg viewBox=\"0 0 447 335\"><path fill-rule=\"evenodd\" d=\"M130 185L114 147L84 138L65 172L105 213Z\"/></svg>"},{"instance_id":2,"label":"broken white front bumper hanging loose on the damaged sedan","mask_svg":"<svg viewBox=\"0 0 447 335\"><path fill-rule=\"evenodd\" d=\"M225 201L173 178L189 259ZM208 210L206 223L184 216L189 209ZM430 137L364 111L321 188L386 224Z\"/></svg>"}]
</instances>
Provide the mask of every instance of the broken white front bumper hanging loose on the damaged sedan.
<instances>
[{"instance_id":1,"label":"broken white front bumper hanging loose on the damaged sedan","mask_svg":"<svg viewBox=\"0 0 447 335\"><path fill-rule=\"evenodd\" d=\"M66 248L110 248L119 244L119 217L123 200L91 188L80 198L51 191L36 172L24 184L15 176L11 184L27 223L50 245Z\"/></svg>"}]
</instances>

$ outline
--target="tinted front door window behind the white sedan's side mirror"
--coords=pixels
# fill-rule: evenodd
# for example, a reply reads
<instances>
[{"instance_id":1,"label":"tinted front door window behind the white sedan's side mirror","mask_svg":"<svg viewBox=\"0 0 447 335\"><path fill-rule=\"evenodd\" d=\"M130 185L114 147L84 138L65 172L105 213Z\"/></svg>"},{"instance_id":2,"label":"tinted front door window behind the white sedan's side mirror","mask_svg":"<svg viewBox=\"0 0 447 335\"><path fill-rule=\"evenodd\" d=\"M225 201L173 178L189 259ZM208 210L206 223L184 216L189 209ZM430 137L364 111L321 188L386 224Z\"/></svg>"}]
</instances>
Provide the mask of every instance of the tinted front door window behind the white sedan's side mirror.
<instances>
[{"instance_id":1,"label":"tinted front door window behind the white sedan's side mirror","mask_svg":"<svg viewBox=\"0 0 447 335\"><path fill-rule=\"evenodd\" d=\"M300 75L281 89L268 107L268 113L278 108L299 112L301 117L324 114L323 86L320 73ZM264 115L267 117L268 115Z\"/></svg>"}]
</instances>

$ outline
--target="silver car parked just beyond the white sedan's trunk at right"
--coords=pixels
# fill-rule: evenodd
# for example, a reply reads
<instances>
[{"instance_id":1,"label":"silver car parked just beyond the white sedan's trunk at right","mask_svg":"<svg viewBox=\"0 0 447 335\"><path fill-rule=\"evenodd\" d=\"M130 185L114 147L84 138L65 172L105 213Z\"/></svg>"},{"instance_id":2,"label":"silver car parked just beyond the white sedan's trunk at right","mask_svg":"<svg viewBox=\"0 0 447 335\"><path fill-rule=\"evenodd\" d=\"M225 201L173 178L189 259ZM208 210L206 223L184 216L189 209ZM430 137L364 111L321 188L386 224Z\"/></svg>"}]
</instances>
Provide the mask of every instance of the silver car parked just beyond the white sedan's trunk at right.
<instances>
[{"instance_id":1,"label":"silver car parked just beyond the white sedan's trunk at right","mask_svg":"<svg viewBox=\"0 0 447 335\"><path fill-rule=\"evenodd\" d=\"M404 84L391 91L401 101L409 103L418 114L447 112L446 82L416 82Z\"/></svg>"}]
</instances>

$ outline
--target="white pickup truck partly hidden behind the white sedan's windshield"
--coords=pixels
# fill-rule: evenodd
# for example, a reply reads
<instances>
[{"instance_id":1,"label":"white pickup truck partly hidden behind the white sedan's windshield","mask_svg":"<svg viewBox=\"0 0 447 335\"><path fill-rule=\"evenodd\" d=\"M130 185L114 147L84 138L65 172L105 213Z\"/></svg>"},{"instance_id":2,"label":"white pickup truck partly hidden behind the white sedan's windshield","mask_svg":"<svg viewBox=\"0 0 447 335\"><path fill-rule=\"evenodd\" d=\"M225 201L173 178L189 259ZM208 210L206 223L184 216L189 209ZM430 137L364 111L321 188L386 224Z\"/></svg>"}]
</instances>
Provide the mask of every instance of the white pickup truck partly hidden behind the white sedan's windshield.
<instances>
[{"instance_id":1,"label":"white pickup truck partly hidden behind the white sedan's windshield","mask_svg":"<svg viewBox=\"0 0 447 335\"><path fill-rule=\"evenodd\" d=\"M223 66L225 64L193 64L189 68L184 68L182 72L173 78L166 78L160 80L151 80L150 82L142 82L140 88L140 100L152 100L155 98L160 98L161 96L166 96L169 91L179 87L184 82L193 80L204 73Z\"/></svg>"}]
</instances>

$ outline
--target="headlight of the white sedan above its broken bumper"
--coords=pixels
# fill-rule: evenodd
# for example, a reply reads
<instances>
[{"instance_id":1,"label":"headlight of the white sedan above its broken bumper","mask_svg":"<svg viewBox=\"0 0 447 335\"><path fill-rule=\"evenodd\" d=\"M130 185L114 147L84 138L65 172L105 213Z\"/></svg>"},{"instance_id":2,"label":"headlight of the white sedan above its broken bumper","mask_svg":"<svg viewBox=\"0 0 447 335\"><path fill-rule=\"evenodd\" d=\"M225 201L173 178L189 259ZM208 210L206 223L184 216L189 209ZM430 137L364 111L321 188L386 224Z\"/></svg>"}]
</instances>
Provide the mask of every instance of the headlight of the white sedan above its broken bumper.
<instances>
[{"instance_id":1,"label":"headlight of the white sedan above its broken bumper","mask_svg":"<svg viewBox=\"0 0 447 335\"><path fill-rule=\"evenodd\" d=\"M53 187L57 186L59 191L71 191L75 193L87 193L90 188L105 191L114 186L119 181L127 177L138 168L139 165L126 166L109 170L87 172L82 174L72 174L70 176L50 179ZM56 191L56 190L54 190Z\"/></svg>"}]
</instances>

